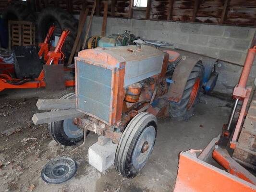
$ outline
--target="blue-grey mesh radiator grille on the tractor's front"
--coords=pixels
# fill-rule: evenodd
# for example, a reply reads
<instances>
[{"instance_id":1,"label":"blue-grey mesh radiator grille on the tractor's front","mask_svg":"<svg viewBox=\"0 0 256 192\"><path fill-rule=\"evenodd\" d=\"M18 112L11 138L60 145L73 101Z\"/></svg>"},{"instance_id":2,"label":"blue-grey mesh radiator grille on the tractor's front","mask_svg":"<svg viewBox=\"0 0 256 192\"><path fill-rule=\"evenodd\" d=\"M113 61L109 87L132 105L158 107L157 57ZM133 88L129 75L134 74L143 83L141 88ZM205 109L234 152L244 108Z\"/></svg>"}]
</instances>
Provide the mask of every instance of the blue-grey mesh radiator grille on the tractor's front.
<instances>
[{"instance_id":1,"label":"blue-grey mesh radiator grille on the tractor's front","mask_svg":"<svg viewBox=\"0 0 256 192\"><path fill-rule=\"evenodd\" d=\"M111 70L77 61L77 108L109 122Z\"/></svg>"}]
</instances>

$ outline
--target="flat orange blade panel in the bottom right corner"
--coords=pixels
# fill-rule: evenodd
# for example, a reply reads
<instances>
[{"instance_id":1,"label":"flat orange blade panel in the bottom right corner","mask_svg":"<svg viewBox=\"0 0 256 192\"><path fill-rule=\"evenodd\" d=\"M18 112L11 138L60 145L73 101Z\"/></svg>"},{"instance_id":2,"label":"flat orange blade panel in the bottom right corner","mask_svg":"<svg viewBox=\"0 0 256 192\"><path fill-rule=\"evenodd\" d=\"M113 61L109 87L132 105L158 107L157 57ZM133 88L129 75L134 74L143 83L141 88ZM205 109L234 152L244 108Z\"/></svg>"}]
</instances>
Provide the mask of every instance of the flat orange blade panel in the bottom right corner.
<instances>
[{"instance_id":1,"label":"flat orange blade panel in the bottom right corner","mask_svg":"<svg viewBox=\"0 0 256 192\"><path fill-rule=\"evenodd\" d=\"M256 192L256 185L181 152L174 192Z\"/></svg>"}]
</instances>

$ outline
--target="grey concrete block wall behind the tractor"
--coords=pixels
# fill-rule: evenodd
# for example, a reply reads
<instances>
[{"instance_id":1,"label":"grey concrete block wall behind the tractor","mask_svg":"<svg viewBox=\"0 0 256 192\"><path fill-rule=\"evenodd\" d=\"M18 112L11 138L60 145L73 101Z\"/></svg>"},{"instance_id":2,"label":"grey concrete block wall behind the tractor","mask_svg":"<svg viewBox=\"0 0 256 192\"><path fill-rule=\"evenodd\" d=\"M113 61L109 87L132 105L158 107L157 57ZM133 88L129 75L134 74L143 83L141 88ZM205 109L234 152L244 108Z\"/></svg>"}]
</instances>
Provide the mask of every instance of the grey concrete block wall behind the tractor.
<instances>
[{"instance_id":1,"label":"grey concrete block wall behind the tractor","mask_svg":"<svg viewBox=\"0 0 256 192\"><path fill-rule=\"evenodd\" d=\"M95 16L93 18L90 36L101 33L102 21L102 17ZM240 77L242 67L229 62L244 65L247 49L250 47L256 28L108 18L107 36L122 34L124 30L131 31L135 36L140 36L142 39L170 42L174 44L173 47L175 48L228 61L221 62L221 66L217 69L219 82L216 90L221 93L232 93L233 86ZM250 75L249 84L252 84L256 77L256 60Z\"/></svg>"}]
</instances>

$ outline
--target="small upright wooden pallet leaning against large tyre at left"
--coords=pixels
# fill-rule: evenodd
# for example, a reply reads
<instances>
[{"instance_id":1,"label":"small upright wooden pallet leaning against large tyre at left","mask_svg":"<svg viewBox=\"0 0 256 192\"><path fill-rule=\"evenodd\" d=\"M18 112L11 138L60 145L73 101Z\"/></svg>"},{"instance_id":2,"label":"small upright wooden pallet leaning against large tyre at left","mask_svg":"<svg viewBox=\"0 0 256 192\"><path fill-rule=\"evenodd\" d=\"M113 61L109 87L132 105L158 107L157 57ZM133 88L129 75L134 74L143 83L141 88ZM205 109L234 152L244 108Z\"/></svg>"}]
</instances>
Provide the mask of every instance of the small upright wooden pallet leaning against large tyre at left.
<instances>
[{"instance_id":1,"label":"small upright wooden pallet leaning against large tyre at left","mask_svg":"<svg viewBox=\"0 0 256 192\"><path fill-rule=\"evenodd\" d=\"M9 49L13 46L33 46L36 39L35 24L28 21L9 21Z\"/></svg>"}]
</instances>

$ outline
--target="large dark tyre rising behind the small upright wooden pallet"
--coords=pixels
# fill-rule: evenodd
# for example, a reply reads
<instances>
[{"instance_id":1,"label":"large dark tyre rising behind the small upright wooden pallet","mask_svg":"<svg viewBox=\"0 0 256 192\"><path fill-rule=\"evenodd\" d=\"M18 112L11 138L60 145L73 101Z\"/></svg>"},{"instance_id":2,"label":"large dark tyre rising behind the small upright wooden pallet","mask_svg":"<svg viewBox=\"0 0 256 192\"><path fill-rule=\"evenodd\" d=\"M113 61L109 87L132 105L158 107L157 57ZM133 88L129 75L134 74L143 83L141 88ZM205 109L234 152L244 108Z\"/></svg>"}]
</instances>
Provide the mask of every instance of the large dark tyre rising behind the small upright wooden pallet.
<instances>
[{"instance_id":1,"label":"large dark tyre rising behind the small upright wooden pallet","mask_svg":"<svg viewBox=\"0 0 256 192\"><path fill-rule=\"evenodd\" d=\"M8 21L35 21L35 15L27 8L24 3L12 2L2 12L2 18L5 25L8 26Z\"/></svg>"}]
</instances>

